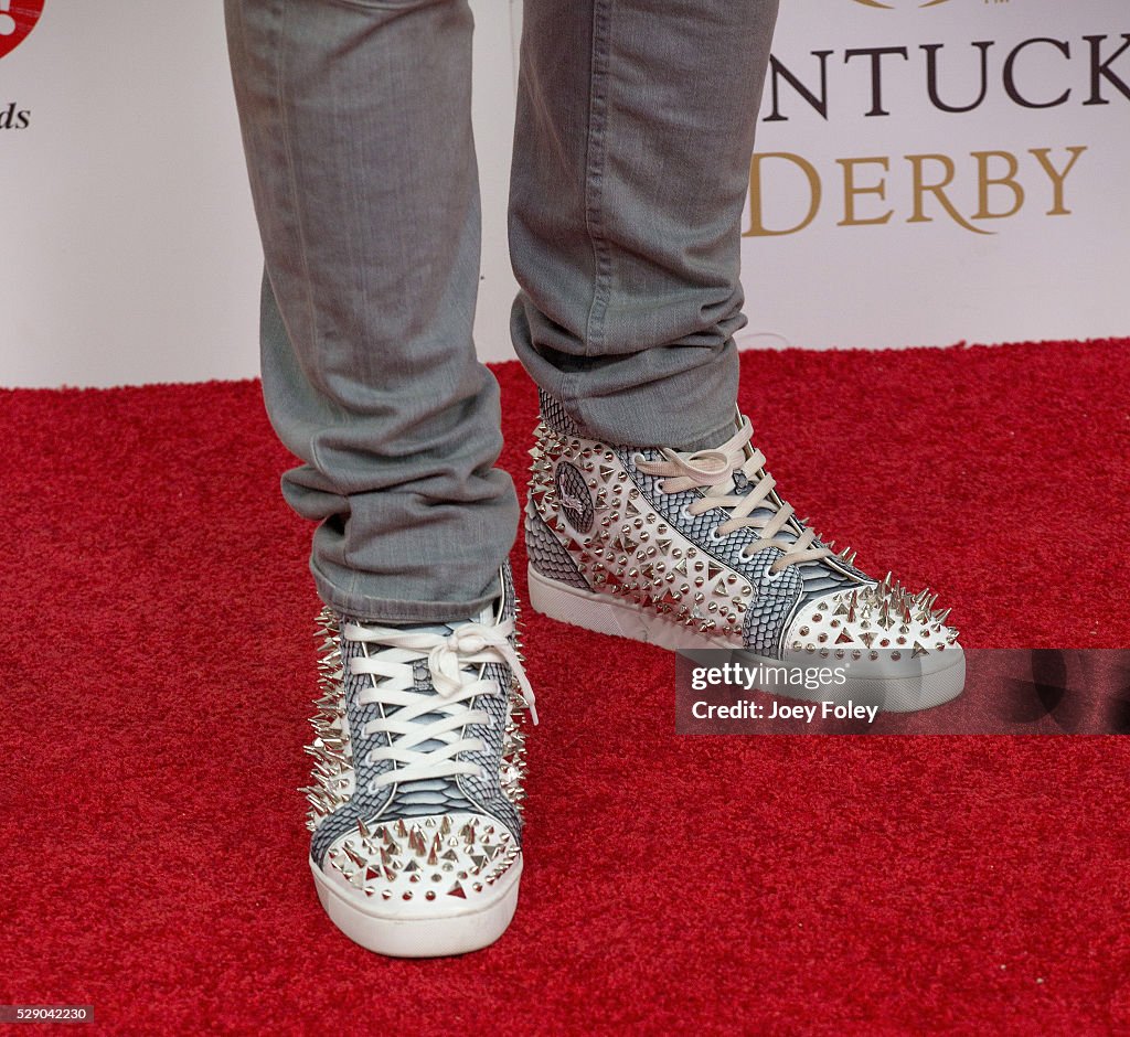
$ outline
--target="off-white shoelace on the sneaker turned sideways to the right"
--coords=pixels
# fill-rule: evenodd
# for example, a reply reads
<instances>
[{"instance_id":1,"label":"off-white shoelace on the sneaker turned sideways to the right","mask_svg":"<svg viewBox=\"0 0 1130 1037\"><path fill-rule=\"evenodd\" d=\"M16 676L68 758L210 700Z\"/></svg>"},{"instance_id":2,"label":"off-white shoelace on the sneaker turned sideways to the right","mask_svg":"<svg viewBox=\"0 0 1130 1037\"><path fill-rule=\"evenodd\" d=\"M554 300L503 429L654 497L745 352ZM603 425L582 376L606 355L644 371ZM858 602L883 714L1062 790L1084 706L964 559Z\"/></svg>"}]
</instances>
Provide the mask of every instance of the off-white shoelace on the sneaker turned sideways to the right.
<instances>
[{"instance_id":1,"label":"off-white shoelace on the sneaker turned sideways to the right","mask_svg":"<svg viewBox=\"0 0 1130 1037\"><path fill-rule=\"evenodd\" d=\"M705 489L701 500L687 507L692 515L701 515L711 508L722 507L730 512L730 517L715 526L714 532L724 537L741 529L757 530L758 539L748 544L742 555L751 557L766 548L779 548L781 556L768 567L771 575L776 575L800 561L815 561L826 558L833 551L824 547L812 547L816 534L811 530L801 530L799 523L794 526L796 540L788 540L779 534L793 516L791 505L785 504L773 494L776 486L773 477L764 471L765 455L750 446L754 427L749 418L742 417L741 428L734 436L716 450L701 450L683 455L663 447L661 453L666 460L646 461L636 456L636 468L650 476L662 476L658 483L664 494L678 494L688 489ZM747 455L747 446L750 453ZM731 494L727 488L733 487L733 476L741 472L749 483L748 493ZM754 515L758 507L773 511L773 516Z\"/></svg>"}]
</instances>

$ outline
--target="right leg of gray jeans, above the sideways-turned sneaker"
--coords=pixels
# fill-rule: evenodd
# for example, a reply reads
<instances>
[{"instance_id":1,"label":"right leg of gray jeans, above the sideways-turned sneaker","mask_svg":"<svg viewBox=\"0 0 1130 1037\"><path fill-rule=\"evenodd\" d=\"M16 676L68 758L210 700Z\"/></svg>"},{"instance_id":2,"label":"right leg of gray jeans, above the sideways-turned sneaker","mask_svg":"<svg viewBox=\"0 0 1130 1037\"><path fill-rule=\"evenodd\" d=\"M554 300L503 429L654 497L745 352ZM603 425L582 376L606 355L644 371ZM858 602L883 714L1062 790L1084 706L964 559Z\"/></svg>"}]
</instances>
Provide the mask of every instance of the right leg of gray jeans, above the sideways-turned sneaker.
<instances>
[{"instance_id":1,"label":"right leg of gray jeans, above the sideways-turned sneaker","mask_svg":"<svg viewBox=\"0 0 1130 1037\"><path fill-rule=\"evenodd\" d=\"M525 0L511 329L598 438L729 435L740 219L777 0Z\"/></svg>"}]
</instances>

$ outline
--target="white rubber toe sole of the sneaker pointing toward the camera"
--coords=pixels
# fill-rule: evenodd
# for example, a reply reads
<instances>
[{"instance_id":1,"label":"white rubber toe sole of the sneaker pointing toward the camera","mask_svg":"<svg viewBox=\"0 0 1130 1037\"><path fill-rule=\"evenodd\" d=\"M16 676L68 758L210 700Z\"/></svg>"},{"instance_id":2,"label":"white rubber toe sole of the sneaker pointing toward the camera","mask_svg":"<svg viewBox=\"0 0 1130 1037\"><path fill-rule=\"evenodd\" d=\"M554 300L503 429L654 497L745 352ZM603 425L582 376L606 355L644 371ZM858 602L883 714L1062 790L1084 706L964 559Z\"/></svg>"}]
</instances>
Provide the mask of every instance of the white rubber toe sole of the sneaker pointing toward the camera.
<instances>
[{"instance_id":1,"label":"white rubber toe sole of the sneaker pointing toward the camera","mask_svg":"<svg viewBox=\"0 0 1130 1037\"><path fill-rule=\"evenodd\" d=\"M359 904L330 881L313 860L310 870L325 914L354 943L390 958L441 958L481 950L506 931L518 907L522 856L519 854L489 896L476 897L443 914L400 910L399 901Z\"/></svg>"}]
</instances>

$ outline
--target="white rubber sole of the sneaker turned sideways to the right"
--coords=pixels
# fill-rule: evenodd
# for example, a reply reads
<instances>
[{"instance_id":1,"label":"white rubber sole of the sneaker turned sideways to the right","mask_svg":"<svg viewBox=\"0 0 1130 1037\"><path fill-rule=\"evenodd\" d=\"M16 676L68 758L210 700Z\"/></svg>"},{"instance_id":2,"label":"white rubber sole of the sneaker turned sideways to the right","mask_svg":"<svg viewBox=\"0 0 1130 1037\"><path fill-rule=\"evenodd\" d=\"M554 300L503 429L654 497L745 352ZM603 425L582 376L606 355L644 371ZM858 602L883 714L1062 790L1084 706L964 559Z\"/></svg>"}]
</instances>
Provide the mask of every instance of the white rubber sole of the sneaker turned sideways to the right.
<instances>
[{"instance_id":1,"label":"white rubber sole of the sneaker turned sideways to the right","mask_svg":"<svg viewBox=\"0 0 1130 1037\"><path fill-rule=\"evenodd\" d=\"M658 645L671 651L728 651L736 661L748 666L763 665L767 670L782 666L827 666L835 660L800 660L782 663L734 647L722 638L709 637L692 627L672 622L643 609L631 601L609 598L594 591L582 591L568 584L542 576L529 567L530 605L544 616L568 622L598 634L611 634ZM762 682L764 691L807 702L849 702L862 706L878 706L888 713L912 713L948 703L965 687L965 653L959 647L933 652L915 660L913 665L896 663L890 659L854 663L854 672L844 683L822 685L808 689L803 686L773 680Z\"/></svg>"}]
</instances>

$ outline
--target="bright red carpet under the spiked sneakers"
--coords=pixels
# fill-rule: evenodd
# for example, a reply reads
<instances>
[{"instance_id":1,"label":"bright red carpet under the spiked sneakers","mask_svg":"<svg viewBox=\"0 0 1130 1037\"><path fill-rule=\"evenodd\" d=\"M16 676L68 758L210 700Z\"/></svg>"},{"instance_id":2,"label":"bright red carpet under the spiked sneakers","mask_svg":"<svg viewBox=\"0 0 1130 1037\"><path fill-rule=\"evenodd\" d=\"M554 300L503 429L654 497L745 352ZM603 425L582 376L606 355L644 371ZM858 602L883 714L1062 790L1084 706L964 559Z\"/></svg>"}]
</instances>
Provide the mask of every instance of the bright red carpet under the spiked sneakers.
<instances>
[{"instance_id":1,"label":"bright red carpet under the spiked sneakers","mask_svg":"<svg viewBox=\"0 0 1130 1037\"><path fill-rule=\"evenodd\" d=\"M941 589L968 645L1125 646L1128 348L748 354L742 403L798 511ZM521 479L534 391L498 375ZM1130 1032L1130 742L676 738L670 655L529 611L518 918L458 960L355 948L306 866L310 531L258 384L0 392L0 1002L150 1034Z\"/></svg>"}]
</instances>

